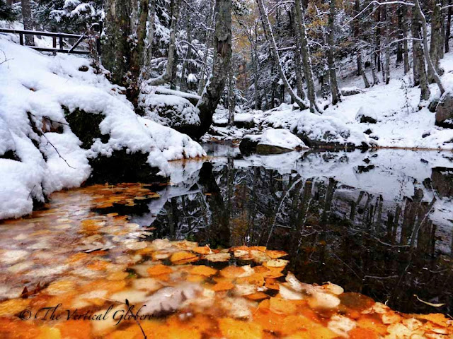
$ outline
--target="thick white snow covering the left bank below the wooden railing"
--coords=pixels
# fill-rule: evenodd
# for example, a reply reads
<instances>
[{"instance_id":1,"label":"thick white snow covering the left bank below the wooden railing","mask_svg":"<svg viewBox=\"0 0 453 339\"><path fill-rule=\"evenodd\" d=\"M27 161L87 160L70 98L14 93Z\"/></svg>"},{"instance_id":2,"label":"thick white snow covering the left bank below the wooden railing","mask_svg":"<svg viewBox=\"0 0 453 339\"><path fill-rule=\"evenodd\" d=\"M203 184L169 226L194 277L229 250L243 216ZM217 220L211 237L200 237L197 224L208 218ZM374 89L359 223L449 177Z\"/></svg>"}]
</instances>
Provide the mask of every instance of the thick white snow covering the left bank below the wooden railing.
<instances>
[{"instance_id":1,"label":"thick white snow covering the left bank below the wooden railing","mask_svg":"<svg viewBox=\"0 0 453 339\"><path fill-rule=\"evenodd\" d=\"M28 214L33 200L43 202L52 191L80 186L91 174L89 160L114 150L147 153L149 165L166 176L169 160L205 155L188 136L138 117L120 94L123 89L96 74L88 59L46 56L3 35L0 50L8 59L0 65L0 219ZM88 71L79 71L80 66ZM63 106L103 114L99 127L108 141L81 148ZM57 121L62 131L48 131L43 119ZM20 161L1 158L8 150Z\"/></svg>"}]
</instances>

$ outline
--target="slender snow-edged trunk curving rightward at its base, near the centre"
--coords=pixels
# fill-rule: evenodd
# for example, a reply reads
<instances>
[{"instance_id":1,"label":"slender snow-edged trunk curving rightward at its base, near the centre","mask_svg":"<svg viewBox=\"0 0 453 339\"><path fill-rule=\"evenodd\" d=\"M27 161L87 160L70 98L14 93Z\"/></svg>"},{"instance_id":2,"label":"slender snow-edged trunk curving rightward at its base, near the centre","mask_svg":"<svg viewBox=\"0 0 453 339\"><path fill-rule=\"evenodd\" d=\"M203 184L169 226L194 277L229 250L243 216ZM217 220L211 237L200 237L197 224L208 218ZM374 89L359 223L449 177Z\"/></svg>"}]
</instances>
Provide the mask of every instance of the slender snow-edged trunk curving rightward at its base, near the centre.
<instances>
[{"instance_id":1,"label":"slender snow-edged trunk curving rightward at its base, near the centre","mask_svg":"<svg viewBox=\"0 0 453 339\"><path fill-rule=\"evenodd\" d=\"M270 51L273 54L273 58L275 59L275 64L277 64L277 71L280 75L280 79L283 81L283 85L285 88L287 88L289 95L291 95L292 100L300 107L300 109L305 109L306 105L304 100L302 100L299 95L294 93L294 90L292 89L291 85L289 85L289 81L287 79L287 76L285 75L285 71L283 71L283 66L280 61L280 55L278 53L278 48L277 48L277 43L275 42L275 37L272 31L272 28L270 26L270 21L268 17L268 12L266 11L263 0L257 0L258 1L258 8L260 10L260 16L261 20L263 22L263 30L265 31L265 36L266 39L268 40L270 44ZM275 93L275 90L274 90ZM274 94L275 95L275 94Z\"/></svg>"}]
</instances>

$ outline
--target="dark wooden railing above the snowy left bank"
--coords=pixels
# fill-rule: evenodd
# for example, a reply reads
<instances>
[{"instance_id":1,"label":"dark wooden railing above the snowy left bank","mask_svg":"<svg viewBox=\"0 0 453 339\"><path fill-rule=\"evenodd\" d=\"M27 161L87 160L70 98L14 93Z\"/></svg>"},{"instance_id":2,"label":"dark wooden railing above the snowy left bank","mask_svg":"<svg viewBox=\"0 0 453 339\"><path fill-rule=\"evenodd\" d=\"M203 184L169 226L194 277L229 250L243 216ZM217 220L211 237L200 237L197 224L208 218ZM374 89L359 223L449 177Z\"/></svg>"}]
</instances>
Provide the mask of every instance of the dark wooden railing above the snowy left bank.
<instances>
[{"instance_id":1,"label":"dark wooden railing above the snowy left bank","mask_svg":"<svg viewBox=\"0 0 453 339\"><path fill-rule=\"evenodd\" d=\"M76 49L79 44L88 37L98 31L101 32L102 30L102 23L93 23L91 27L83 34L69 34L69 33L57 33L57 32L41 32L38 30L11 30L9 28L0 28L0 33L10 33L10 34L18 34L19 35L19 43L21 45L24 44L24 36L25 35L39 35L42 37L52 37L52 48L50 47L37 47L37 46L29 46L27 47L36 49L37 51L42 52L59 52L59 53L74 53L74 54L90 54L91 52L88 50L81 50ZM58 39L58 48L57 48L57 39ZM70 48L64 48L64 39L77 39L77 42ZM101 41L99 40L99 36L96 36L96 49L98 54L101 54Z\"/></svg>"}]
</instances>

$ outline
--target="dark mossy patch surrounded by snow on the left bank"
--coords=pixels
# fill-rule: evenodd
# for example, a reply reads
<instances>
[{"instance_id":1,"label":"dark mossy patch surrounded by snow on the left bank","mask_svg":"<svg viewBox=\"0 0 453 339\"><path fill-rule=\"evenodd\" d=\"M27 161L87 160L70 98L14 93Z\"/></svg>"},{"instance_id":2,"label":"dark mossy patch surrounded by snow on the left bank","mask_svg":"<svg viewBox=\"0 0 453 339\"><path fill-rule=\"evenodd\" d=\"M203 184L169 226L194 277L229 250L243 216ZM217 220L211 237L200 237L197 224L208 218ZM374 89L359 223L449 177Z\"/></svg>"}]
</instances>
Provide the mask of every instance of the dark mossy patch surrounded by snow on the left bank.
<instances>
[{"instance_id":1,"label":"dark mossy patch surrounded by snow on the left bank","mask_svg":"<svg viewBox=\"0 0 453 339\"><path fill-rule=\"evenodd\" d=\"M64 116L68 121L71 131L82 142L82 148L88 149L93 145L93 140L100 138L103 143L108 141L109 136L101 133L99 124L105 118L102 113L88 113L83 109L74 109L70 112L67 107L63 107Z\"/></svg>"}]
</instances>

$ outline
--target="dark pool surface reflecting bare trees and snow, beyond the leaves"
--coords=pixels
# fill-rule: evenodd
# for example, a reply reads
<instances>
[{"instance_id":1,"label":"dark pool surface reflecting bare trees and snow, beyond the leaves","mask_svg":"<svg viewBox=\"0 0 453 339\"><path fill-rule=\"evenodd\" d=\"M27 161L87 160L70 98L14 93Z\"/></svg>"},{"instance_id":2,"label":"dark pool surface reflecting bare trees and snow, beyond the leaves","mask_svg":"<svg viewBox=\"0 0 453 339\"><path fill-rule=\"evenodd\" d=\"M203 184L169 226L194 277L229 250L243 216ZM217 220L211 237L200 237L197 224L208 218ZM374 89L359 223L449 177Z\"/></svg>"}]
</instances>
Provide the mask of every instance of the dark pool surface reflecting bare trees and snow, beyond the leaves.
<instances>
[{"instance_id":1,"label":"dark pool surface reflecting bare trees and snow, beyond the leaves","mask_svg":"<svg viewBox=\"0 0 453 339\"><path fill-rule=\"evenodd\" d=\"M171 186L133 221L154 237L284 249L306 283L332 281L399 311L452 312L452 153L212 147L210 162L173 163Z\"/></svg>"}]
</instances>

